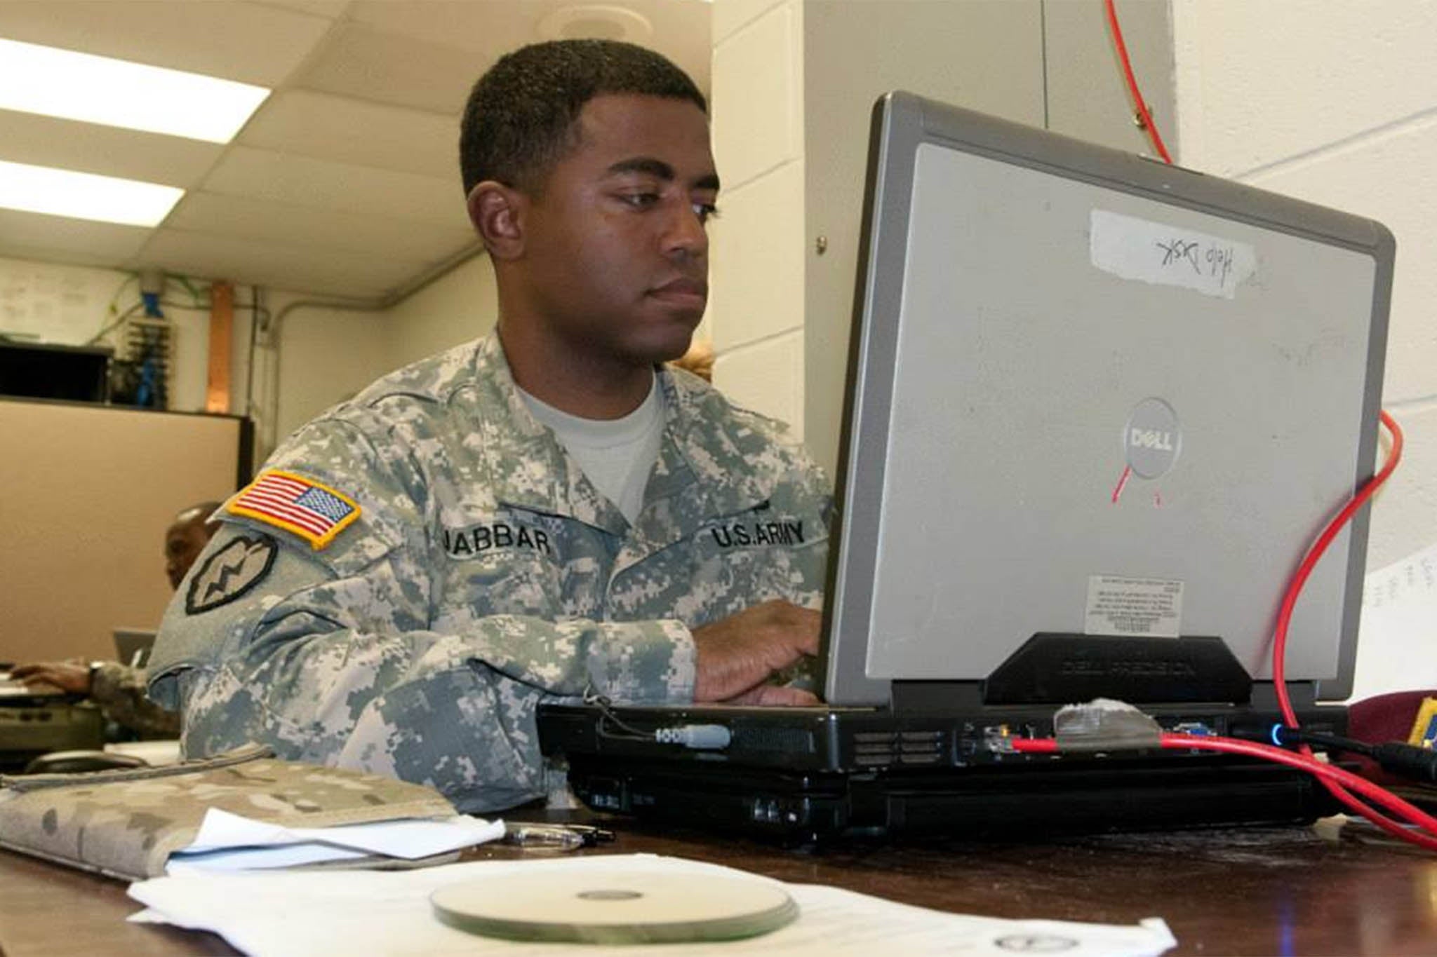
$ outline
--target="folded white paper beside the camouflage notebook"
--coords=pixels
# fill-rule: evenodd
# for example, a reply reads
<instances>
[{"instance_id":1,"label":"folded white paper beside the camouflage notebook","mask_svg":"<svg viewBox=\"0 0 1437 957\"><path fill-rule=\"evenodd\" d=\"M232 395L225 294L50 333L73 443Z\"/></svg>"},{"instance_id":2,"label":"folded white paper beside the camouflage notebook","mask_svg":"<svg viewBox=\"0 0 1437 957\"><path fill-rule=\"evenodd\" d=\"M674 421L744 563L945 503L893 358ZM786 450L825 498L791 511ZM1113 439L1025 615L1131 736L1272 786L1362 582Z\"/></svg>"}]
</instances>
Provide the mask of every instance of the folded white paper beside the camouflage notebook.
<instances>
[{"instance_id":1,"label":"folded white paper beside the camouflage notebook","mask_svg":"<svg viewBox=\"0 0 1437 957\"><path fill-rule=\"evenodd\" d=\"M194 841L170 855L167 872L243 871L346 861L372 854L408 861L504 835L503 821L443 818L375 821L333 828L282 828L210 808Z\"/></svg>"}]
</instances>

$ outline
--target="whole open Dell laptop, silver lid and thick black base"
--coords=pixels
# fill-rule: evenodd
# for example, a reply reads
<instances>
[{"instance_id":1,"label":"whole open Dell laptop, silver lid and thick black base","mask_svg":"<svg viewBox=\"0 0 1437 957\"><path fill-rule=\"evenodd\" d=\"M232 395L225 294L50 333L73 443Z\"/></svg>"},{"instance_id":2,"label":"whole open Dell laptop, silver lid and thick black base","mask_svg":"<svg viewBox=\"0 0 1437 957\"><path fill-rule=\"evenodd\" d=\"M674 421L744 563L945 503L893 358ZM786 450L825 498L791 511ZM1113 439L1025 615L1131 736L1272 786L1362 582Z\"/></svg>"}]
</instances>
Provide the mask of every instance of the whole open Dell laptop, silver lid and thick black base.
<instances>
[{"instance_id":1,"label":"whole open Dell laptop, silver lid and thick black base","mask_svg":"<svg viewBox=\"0 0 1437 957\"><path fill-rule=\"evenodd\" d=\"M1305 822L1309 776L1013 753L1095 697L1262 736L1288 580L1374 471L1380 224L895 92L875 106L822 707L546 704L604 811L786 839ZM1303 590L1299 719L1352 684L1368 515ZM667 743L703 726L714 746Z\"/></svg>"}]
</instances>

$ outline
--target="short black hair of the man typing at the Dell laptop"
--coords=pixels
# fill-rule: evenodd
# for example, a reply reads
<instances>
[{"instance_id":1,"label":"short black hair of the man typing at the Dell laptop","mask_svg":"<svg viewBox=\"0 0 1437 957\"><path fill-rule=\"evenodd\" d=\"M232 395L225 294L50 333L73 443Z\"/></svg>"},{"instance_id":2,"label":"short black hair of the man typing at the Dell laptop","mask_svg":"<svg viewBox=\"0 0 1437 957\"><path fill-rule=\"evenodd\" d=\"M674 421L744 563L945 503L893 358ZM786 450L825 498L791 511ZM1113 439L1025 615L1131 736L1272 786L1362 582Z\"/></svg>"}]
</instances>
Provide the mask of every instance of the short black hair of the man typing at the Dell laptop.
<instances>
[{"instance_id":1,"label":"short black hair of the man typing at the Dell laptop","mask_svg":"<svg viewBox=\"0 0 1437 957\"><path fill-rule=\"evenodd\" d=\"M537 192L573 145L573 123L601 93L704 95L668 59L616 40L553 40L507 53L479 77L458 136L464 195L484 179Z\"/></svg>"}]
</instances>

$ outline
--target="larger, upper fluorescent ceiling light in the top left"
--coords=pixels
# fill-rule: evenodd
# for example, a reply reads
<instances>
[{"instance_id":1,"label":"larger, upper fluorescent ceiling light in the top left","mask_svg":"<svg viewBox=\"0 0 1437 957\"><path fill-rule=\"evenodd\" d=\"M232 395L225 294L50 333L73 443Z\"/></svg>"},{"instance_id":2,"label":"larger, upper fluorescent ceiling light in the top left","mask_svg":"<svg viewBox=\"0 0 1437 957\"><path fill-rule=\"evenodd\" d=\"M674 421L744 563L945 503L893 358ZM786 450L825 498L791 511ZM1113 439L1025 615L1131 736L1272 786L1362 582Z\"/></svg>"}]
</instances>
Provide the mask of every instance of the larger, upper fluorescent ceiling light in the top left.
<instances>
[{"instance_id":1,"label":"larger, upper fluorescent ceiling light in the top left","mask_svg":"<svg viewBox=\"0 0 1437 957\"><path fill-rule=\"evenodd\" d=\"M0 40L0 109L227 143L263 86Z\"/></svg>"}]
</instances>

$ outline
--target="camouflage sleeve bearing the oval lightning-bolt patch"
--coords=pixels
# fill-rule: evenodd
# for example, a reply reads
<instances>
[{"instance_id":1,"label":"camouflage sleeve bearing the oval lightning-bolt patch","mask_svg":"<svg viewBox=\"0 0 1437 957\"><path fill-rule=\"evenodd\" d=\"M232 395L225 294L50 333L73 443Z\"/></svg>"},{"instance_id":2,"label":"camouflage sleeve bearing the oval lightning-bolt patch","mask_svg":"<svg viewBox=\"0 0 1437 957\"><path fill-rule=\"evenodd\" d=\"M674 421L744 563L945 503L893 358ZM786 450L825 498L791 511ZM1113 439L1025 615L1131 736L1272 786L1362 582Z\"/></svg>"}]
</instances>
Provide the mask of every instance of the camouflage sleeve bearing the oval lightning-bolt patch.
<instances>
[{"instance_id":1,"label":"camouflage sleeve bearing the oval lightning-bolt patch","mask_svg":"<svg viewBox=\"0 0 1437 957\"><path fill-rule=\"evenodd\" d=\"M312 438L312 458L336 461L336 440L355 442ZM395 469L361 465L365 515L332 545L230 521L175 594L151 694L182 704L187 756L256 740L493 811L545 791L542 700L691 700L694 644L678 621L494 616L464 634L428 630L422 514Z\"/></svg>"}]
</instances>

